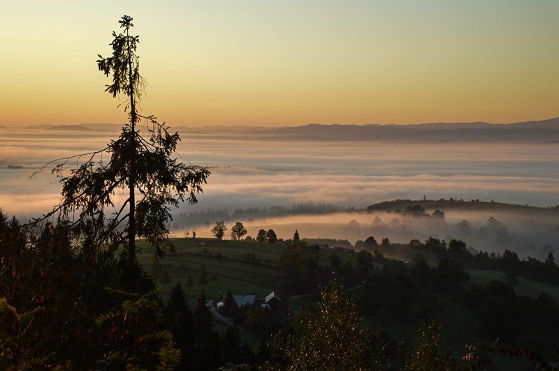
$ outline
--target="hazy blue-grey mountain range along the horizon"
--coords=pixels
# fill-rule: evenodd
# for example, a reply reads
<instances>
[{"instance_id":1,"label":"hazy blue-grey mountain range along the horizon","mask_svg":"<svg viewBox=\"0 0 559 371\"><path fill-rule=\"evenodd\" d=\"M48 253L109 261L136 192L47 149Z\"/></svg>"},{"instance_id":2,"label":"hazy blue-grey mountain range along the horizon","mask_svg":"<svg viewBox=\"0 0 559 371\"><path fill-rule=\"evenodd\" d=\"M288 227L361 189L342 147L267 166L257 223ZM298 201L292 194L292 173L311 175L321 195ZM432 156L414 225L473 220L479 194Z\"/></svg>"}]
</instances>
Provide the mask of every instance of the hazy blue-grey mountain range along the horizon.
<instances>
[{"instance_id":1,"label":"hazy blue-grey mountain range along the horizon","mask_svg":"<svg viewBox=\"0 0 559 371\"><path fill-rule=\"evenodd\" d=\"M79 125L31 126L46 130L119 131L122 125L82 123ZM267 128L261 126L171 127L181 135L197 137L245 137L245 139L394 141L394 142L548 142L559 143L559 117L519 123L422 123L416 125L322 125Z\"/></svg>"}]
</instances>

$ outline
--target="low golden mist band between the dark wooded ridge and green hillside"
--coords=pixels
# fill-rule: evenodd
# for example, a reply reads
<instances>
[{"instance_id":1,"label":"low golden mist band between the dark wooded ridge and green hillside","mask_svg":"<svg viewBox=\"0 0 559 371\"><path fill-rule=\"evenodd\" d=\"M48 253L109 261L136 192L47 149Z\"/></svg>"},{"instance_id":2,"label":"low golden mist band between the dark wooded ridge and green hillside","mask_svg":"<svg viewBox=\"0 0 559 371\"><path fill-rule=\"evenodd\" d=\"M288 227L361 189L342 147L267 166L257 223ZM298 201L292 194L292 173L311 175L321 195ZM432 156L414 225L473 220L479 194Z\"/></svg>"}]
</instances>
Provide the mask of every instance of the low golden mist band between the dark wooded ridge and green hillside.
<instances>
[{"instance_id":1,"label":"low golden mist band between the dark wooded ridge and green hillside","mask_svg":"<svg viewBox=\"0 0 559 371\"><path fill-rule=\"evenodd\" d=\"M412 239L424 242L432 236L447 242L461 239L474 250L498 254L505 249L514 250L521 258L530 256L544 259L550 251L559 254L559 211L549 209L527 207L511 211L500 206L470 211L446 209L444 218L418 218L403 215L402 212L344 211L268 218L252 218L250 213L246 213L244 218L230 215L227 219L224 212L207 213L206 222L193 223L189 227L185 227L185 224L192 218L177 215L172 234L175 237L187 237L192 235L191 232L196 232L196 236L211 237L210 229L215 222L210 220L225 219L228 220L225 224L229 229L236 221L241 221L247 229L247 236L252 238L256 237L260 229L273 229L279 238L290 239L297 229L305 239L340 240L331 241L331 247L347 247L347 243L354 246L368 236L374 236L378 243L384 238L392 243L409 243Z\"/></svg>"}]
</instances>

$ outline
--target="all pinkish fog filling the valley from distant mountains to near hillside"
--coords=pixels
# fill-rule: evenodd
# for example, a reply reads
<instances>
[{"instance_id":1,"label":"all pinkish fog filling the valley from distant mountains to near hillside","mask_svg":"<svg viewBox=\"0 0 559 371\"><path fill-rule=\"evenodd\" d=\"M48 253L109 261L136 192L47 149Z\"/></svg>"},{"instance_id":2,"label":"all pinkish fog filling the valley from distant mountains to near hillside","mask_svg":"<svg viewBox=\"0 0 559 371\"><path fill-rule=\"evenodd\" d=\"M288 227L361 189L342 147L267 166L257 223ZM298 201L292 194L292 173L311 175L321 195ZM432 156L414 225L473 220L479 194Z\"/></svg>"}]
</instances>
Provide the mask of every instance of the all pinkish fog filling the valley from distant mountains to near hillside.
<instances>
[{"instance_id":1,"label":"all pinkish fog filling the valley from distant mountains to near hillside","mask_svg":"<svg viewBox=\"0 0 559 371\"><path fill-rule=\"evenodd\" d=\"M29 176L56 158L104 148L119 128L1 128L3 210L20 220L50 211L59 202L57 179L48 172ZM180 160L208 167L212 175L198 204L173 212L172 236L194 230L211 236L208 224L242 220L249 236L273 228L279 238L289 239L298 229L305 238L352 245L370 235L398 243L434 236L463 239L490 252L514 248L521 257L559 248L558 213L549 209L559 204L558 119L177 130ZM366 211L386 200L424 198L456 201L440 205L444 220L403 216L405 207ZM500 203L535 207L510 209ZM312 207L297 210L302 204ZM433 205L425 205L427 213L435 211ZM502 228L488 228L489 218Z\"/></svg>"}]
</instances>

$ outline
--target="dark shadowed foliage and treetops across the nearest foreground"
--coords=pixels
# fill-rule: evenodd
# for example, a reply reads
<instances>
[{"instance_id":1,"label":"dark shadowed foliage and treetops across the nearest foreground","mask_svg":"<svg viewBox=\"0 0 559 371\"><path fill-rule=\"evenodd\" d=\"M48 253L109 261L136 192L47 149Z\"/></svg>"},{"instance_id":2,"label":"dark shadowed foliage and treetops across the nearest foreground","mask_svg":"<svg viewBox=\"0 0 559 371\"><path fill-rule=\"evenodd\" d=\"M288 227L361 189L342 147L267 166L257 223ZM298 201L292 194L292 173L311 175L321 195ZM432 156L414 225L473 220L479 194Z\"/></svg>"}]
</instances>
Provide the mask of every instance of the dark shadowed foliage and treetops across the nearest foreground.
<instances>
[{"instance_id":1,"label":"dark shadowed foliage and treetops across the nearest foreground","mask_svg":"<svg viewBox=\"0 0 559 371\"><path fill-rule=\"evenodd\" d=\"M29 244L37 236L6 220L0 212L1 369L208 370L233 363L273 370L454 370L491 366L494 354L551 369L534 352L500 343L470 344L464 357L451 354L434 322L419 329L416 347L407 347L364 326L353 299L335 283L320 286L319 303L252 349L235 326L222 335L215 331L203 294L192 311L180 284L165 304L153 291L110 289L119 287L124 273L117 260L87 264L50 229L43 231L43 243ZM142 287L153 287L142 277ZM507 293L496 285L487 289ZM256 311L270 315L259 305L247 310ZM245 328L256 332L261 325Z\"/></svg>"}]
</instances>

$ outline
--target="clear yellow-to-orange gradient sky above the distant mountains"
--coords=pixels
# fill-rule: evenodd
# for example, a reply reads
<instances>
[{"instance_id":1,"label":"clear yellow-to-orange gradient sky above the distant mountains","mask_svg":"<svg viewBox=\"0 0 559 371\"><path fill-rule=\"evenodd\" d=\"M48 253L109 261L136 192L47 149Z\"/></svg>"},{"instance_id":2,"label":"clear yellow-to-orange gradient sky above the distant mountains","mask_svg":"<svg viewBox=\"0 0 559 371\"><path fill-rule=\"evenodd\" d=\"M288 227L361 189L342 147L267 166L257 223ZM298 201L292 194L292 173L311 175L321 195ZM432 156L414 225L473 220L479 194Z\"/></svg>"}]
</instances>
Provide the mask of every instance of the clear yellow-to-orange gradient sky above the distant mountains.
<instances>
[{"instance_id":1,"label":"clear yellow-to-orange gradient sky above the distant mountains","mask_svg":"<svg viewBox=\"0 0 559 371\"><path fill-rule=\"evenodd\" d=\"M559 1L4 1L0 125L122 123L97 54L122 15L171 126L559 116Z\"/></svg>"}]
</instances>

